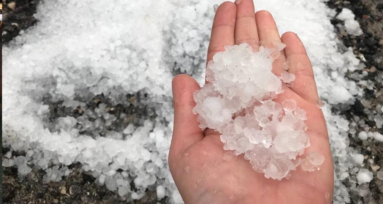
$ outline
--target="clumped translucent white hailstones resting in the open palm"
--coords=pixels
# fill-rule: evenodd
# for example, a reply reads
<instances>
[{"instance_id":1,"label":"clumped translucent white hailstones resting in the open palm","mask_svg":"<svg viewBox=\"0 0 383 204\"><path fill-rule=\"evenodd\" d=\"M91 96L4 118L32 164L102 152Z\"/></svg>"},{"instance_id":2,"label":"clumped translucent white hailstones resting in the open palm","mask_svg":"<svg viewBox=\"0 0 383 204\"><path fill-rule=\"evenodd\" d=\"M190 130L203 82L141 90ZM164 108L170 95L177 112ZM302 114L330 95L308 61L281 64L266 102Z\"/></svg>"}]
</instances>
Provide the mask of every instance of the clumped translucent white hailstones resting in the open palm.
<instances>
[{"instance_id":1,"label":"clumped translucent white hailstones resting in the open palm","mask_svg":"<svg viewBox=\"0 0 383 204\"><path fill-rule=\"evenodd\" d=\"M294 100L284 100L282 105L272 101L283 93L281 80L295 79L291 73L281 77L272 73L275 53L285 48L282 42L274 44L275 48L261 46L253 52L244 43L215 54L206 69L209 83L194 93L193 113L199 114L201 129L222 134L225 150L244 153L254 170L282 180L298 165L306 171L319 170L324 156L311 152L300 158L310 145L306 112Z\"/></svg>"}]
</instances>

